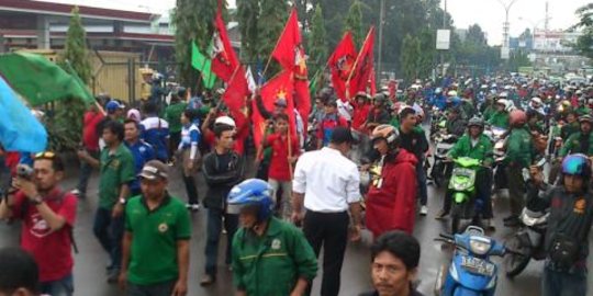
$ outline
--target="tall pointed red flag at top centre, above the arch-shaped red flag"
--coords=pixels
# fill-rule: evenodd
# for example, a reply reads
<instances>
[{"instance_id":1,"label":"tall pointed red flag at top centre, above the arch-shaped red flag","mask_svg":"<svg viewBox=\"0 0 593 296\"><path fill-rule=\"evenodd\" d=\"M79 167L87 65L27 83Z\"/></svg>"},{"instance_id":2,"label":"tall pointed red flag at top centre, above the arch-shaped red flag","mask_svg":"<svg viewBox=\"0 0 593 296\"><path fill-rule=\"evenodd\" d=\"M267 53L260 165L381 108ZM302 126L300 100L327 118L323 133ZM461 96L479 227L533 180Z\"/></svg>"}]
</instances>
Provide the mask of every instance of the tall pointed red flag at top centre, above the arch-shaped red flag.
<instances>
[{"instance_id":1,"label":"tall pointed red flag at top centre, above the arch-shaped red flag","mask_svg":"<svg viewBox=\"0 0 593 296\"><path fill-rule=\"evenodd\" d=\"M278 60L282 68L293 71L298 79L307 79L306 55L302 45L301 31L299 30L299 16L296 9L292 9L284 31L273 48L272 57Z\"/></svg>"}]
</instances>

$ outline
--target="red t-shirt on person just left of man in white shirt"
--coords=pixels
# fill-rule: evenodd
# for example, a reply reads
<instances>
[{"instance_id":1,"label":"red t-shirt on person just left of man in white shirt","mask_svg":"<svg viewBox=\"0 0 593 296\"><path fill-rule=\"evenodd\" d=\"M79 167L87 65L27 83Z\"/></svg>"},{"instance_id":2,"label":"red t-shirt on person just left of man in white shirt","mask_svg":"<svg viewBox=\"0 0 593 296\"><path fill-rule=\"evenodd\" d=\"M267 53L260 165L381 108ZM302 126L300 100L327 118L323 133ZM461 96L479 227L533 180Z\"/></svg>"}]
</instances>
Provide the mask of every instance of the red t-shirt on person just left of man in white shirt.
<instances>
[{"instance_id":1,"label":"red t-shirt on person just left of man in white shirt","mask_svg":"<svg viewBox=\"0 0 593 296\"><path fill-rule=\"evenodd\" d=\"M298 156L300 151L296 137L291 137L290 144L292 146L292 156ZM277 181L290 181L288 137L282 138L278 133L271 134L268 136L268 145L272 148L268 178Z\"/></svg>"}]
</instances>

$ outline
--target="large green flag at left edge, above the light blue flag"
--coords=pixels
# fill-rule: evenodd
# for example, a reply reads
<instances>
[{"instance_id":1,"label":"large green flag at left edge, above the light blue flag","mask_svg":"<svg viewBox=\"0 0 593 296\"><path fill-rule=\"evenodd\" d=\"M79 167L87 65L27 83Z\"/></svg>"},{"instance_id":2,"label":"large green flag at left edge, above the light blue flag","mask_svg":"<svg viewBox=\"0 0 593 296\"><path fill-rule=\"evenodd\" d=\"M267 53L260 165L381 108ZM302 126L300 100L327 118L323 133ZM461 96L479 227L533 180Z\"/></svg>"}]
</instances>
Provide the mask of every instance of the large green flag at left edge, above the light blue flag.
<instances>
[{"instance_id":1,"label":"large green flag at left edge, above the light blue flag","mask_svg":"<svg viewBox=\"0 0 593 296\"><path fill-rule=\"evenodd\" d=\"M69 96L86 103L94 98L87 86L41 55L16 53L0 55L0 76L32 106Z\"/></svg>"}]
</instances>

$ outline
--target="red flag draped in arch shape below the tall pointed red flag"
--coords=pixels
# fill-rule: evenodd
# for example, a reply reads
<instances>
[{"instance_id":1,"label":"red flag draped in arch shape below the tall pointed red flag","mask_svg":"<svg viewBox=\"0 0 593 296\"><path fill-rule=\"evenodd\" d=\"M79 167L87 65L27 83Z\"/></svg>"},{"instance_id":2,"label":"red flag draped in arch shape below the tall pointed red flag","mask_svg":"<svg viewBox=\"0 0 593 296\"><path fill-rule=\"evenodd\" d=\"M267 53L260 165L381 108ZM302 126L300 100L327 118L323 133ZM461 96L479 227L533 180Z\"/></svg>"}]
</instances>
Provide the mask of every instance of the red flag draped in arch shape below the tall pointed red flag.
<instances>
[{"instance_id":1,"label":"red flag draped in arch shape below the tall pointed red flag","mask_svg":"<svg viewBox=\"0 0 593 296\"><path fill-rule=\"evenodd\" d=\"M273 110L273 103L277 100L286 100L287 101L287 115L289 116L289 130L290 134L293 136L295 128L295 122L294 122L294 103L292 101L292 91L293 91L293 83L292 83L292 72L290 71L282 71L277 77L272 78L264 87L261 87L261 100L264 101L264 106L266 110L271 111ZM261 138L264 137L264 133L266 132L266 119L259 114L259 111L256 105L256 101L253 101L253 116L251 119L254 122L254 141L256 147L260 147Z\"/></svg>"}]
</instances>

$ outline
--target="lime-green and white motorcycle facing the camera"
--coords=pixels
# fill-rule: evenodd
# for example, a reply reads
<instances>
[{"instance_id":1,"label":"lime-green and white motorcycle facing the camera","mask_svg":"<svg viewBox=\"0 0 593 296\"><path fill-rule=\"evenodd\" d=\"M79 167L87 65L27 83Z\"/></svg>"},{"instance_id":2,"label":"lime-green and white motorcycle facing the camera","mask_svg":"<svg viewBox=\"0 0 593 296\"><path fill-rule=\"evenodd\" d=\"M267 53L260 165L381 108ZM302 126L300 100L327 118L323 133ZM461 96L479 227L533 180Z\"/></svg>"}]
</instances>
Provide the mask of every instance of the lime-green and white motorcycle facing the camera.
<instances>
[{"instance_id":1,"label":"lime-green and white motorcycle facing the camera","mask_svg":"<svg viewBox=\"0 0 593 296\"><path fill-rule=\"evenodd\" d=\"M472 225L480 225L480 213L483 206L477 201L475 177L478 169L483 168L478 159L461 157L454 159L455 168L449 181L451 204L451 232L457 234L461 220L471 219Z\"/></svg>"}]
</instances>

